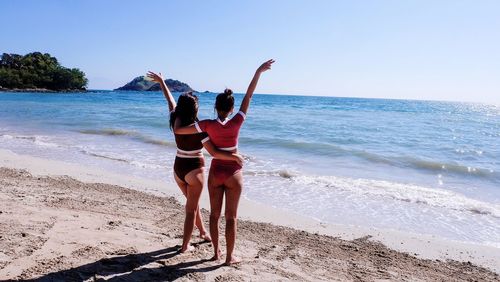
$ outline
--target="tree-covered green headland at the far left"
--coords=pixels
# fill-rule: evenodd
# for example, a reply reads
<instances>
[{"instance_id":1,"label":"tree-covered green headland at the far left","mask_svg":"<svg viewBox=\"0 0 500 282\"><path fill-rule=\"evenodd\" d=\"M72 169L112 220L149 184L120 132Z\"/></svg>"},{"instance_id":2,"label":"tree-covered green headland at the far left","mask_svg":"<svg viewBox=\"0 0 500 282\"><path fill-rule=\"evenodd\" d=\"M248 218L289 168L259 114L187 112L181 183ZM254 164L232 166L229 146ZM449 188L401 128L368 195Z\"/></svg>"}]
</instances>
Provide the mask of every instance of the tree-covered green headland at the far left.
<instances>
[{"instance_id":1,"label":"tree-covered green headland at the far left","mask_svg":"<svg viewBox=\"0 0 500 282\"><path fill-rule=\"evenodd\" d=\"M48 53L3 53L0 59L0 91L86 91L87 82L81 70L61 66Z\"/></svg>"}]
</instances>

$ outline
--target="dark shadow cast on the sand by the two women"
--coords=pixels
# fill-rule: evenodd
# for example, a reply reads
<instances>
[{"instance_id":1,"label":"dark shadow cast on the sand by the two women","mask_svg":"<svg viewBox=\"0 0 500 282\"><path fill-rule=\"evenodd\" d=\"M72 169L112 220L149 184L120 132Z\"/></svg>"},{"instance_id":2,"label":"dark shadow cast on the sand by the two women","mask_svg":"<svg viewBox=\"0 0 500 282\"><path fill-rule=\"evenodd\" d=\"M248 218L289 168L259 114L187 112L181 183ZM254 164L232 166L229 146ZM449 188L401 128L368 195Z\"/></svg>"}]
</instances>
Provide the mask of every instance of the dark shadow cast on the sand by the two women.
<instances>
[{"instance_id":1,"label":"dark shadow cast on the sand by the two women","mask_svg":"<svg viewBox=\"0 0 500 282\"><path fill-rule=\"evenodd\" d=\"M208 259L166 265L165 260L179 255L179 247L170 247L149 253L130 254L103 258L96 262L71 269L46 274L25 281L172 281L200 272L218 269L222 264L202 268L193 266L208 262ZM151 264L151 265L149 265ZM142 267L146 266L147 267ZM112 276L110 278L107 278Z\"/></svg>"}]
</instances>

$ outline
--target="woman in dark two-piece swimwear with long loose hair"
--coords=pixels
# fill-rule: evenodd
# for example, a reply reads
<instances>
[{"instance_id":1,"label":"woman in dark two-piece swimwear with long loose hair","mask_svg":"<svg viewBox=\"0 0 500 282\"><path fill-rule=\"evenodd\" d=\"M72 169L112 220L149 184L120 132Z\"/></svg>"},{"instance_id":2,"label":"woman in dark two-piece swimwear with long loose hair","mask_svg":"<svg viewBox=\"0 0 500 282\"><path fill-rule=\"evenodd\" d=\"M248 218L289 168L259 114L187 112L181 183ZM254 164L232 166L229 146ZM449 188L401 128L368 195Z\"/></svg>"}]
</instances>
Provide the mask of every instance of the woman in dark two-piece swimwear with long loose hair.
<instances>
[{"instance_id":1,"label":"woman in dark two-piece swimwear with long loose hair","mask_svg":"<svg viewBox=\"0 0 500 282\"><path fill-rule=\"evenodd\" d=\"M167 99L170 111L171 129L175 130L178 127L193 124L198 120L198 97L192 93L185 93L179 96L178 103L176 104L161 73L156 74L154 72L149 72L148 77L160 84L163 94ZM181 252L186 252L193 248L189 245L189 240L191 239L195 224L200 230L200 237L205 241L211 241L203 225L203 219L198 205L205 180L205 161L201 153L202 148L205 147L212 156L218 159L233 160L240 164L243 162L243 158L240 155L220 151L216 149L210 141L204 140L205 138L207 138L205 133L190 135L175 134L177 155L174 162L174 178L182 193L187 198ZM205 141L203 144L202 140Z\"/></svg>"}]
</instances>

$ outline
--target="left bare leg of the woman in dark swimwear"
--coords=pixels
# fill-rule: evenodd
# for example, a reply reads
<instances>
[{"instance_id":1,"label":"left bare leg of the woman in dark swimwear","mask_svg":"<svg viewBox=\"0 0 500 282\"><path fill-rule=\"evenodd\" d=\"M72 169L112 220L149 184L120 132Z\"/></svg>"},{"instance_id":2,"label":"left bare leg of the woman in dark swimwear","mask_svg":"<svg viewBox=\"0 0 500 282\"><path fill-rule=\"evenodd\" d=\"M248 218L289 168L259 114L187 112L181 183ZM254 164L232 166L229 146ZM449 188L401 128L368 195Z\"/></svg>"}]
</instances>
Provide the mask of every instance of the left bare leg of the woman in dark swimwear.
<instances>
[{"instance_id":1,"label":"left bare leg of the woman in dark swimwear","mask_svg":"<svg viewBox=\"0 0 500 282\"><path fill-rule=\"evenodd\" d=\"M191 240L191 235L193 234L196 212L198 210L198 202L200 200L201 191L203 189L203 169L195 169L189 172L184 178L187 182L187 201L181 253L192 249L189 246L189 241Z\"/></svg>"}]
</instances>

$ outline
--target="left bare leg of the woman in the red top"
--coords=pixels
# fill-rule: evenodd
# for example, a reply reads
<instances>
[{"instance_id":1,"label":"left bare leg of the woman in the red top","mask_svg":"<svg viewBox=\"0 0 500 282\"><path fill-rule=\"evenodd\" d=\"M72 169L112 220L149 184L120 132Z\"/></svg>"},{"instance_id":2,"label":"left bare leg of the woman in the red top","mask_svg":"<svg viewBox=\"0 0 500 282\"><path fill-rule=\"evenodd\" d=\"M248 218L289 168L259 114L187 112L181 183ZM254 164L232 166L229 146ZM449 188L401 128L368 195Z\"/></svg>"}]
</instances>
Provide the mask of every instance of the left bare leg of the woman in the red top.
<instances>
[{"instance_id":1,"label":"left bare leg of the woman in the red top","mask_svg":"<svg viewBox=\"0 0 500 282\"><path fill-rule=\"evenodd\" d=\"M224 186L215 183L212 175L208 176L208 193L210 195L210 235L214 246L212 260L219 260L221 251L219 247L219 220L224 197Z\"/></svg>"}]
</instances>

